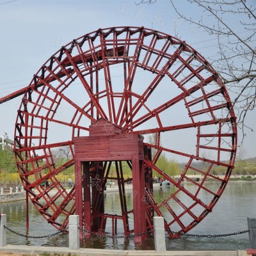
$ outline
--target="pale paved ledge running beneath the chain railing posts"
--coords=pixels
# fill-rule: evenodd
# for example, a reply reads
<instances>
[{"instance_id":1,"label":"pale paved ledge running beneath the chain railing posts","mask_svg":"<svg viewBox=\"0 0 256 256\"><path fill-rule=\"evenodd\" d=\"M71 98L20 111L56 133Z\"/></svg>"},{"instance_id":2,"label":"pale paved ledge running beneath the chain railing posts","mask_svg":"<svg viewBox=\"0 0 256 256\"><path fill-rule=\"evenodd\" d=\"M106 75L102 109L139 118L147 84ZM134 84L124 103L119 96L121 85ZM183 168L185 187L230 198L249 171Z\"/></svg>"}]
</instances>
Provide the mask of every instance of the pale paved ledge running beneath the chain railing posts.
<instances>
[{"instance_id":1,"label":"pale paved ledge running beneath the chain railing posts","mask_svg":"<svg viewBox=\"0 0 256 256\"><path fill-rule=\"evenodd\" d=\"M27 245L7 245L0 247L0 252L11 252L25 255L42 254L42 253L60 253L62 255L83 255L83 256L106 256L106 255L128 255L128 256L246 256L245 251L120 251L120 250L103 250L103 249L86 249L69 250L67 247L48 247L48 246L27 246Z\"/></svg>"}]
</instances>

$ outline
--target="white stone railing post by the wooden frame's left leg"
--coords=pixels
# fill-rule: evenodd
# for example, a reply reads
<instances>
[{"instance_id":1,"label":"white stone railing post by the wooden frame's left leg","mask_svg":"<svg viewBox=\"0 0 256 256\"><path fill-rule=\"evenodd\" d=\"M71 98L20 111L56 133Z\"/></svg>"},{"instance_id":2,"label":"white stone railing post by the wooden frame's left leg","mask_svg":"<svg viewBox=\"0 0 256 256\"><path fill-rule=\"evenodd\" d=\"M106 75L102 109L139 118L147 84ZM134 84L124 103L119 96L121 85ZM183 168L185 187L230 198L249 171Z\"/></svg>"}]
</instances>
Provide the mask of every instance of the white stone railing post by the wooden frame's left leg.
<instances>
[{"instance_id":1,"label":"white stone railing post by the wooden frame's left leg","mask_svg":"<svg viewBox=\"0 0 256 256\"><path fill-rule=\"evenodd\" d=\"M68 220L69 249L79 250L79 215L70 215Z\"/></svg>"}]
</instances>

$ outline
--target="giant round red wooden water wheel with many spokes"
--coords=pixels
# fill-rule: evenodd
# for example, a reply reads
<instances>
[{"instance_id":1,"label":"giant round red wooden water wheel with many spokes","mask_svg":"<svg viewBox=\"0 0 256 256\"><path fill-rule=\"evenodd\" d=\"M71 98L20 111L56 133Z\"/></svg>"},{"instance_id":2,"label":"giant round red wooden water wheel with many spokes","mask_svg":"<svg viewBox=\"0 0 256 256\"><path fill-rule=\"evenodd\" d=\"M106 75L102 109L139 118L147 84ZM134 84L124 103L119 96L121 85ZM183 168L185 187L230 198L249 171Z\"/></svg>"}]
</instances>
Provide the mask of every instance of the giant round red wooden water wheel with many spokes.
<instances>
[{"instance_id":1,"label":"giant round red wooden water wheel with many spokes","mask_svg":"<svg viewBox=\"0 0 256 256\"><path fill-rule=\"evenodd\" d=\"M161 198L145 189L148 208L164 217L170 237L212 211L234 167L236 116L220 77L195 49L152 29L99 29L61 47L35 74L18 109L15 154L31 202L56 228L66 228L76 212L75 186L65 189L58 174L74 166L74 138L88 136L98 120L121 134L143 135L152 150L144 170L172 186ZM56 148L68 148L71 157L55 163ZM161 168L163 156L183 163L182 171ZM108 179L109 168L100 168ZM217 177L220 168L224 175Z\"/></svg>"}]
</instances>

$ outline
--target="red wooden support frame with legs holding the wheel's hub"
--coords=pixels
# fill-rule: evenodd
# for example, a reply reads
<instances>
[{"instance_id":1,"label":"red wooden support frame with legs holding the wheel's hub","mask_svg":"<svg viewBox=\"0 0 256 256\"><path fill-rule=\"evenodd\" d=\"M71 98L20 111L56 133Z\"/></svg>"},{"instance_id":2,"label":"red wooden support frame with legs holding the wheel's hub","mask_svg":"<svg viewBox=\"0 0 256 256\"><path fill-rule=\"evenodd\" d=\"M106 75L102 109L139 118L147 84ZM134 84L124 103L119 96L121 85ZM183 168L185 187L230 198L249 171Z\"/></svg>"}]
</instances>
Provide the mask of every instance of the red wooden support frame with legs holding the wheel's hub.
<instances>
[{"instance_id":1,"label":"red wooden support frame with legs holding the wheel's hub","mask_svg":"<svg viewBox=\"0 0 256 256\"><path fill-rule=\"evenodd\" d=\"M77 137L75 145L75 173L76 173L76 214L79 215L79 225L86 230L86 237L91 233L104 232L106 218L114 218L104 213L104 205L95 203L104 192L106 179L104 170L100 170L97 179L98 186L93 186L93 165L106 161L115 161L118 188L122 206L122 218L125 235L131 233L127 229L128 216L127 205L123 198L124 182L122 172L118 169L118 161L131 161L132 165L132 186L133 186L133 215L134 215L134 237L135 243L141 243L147 230L146 207L145 207L145 172L143 164L143 140L136 134L133 137L121 134L121 130L110 122L100 120L89 128L90 136ZM124 147L125 145L125 147ZM102 164L101 164L102 168ZM108 173L108 172L107 172ZM97 221L96 221L97 220ZM116 233L116 219L112 220L113 230ZM103 229L103 230L102 230Z\"/></svg>"}]
</instances>

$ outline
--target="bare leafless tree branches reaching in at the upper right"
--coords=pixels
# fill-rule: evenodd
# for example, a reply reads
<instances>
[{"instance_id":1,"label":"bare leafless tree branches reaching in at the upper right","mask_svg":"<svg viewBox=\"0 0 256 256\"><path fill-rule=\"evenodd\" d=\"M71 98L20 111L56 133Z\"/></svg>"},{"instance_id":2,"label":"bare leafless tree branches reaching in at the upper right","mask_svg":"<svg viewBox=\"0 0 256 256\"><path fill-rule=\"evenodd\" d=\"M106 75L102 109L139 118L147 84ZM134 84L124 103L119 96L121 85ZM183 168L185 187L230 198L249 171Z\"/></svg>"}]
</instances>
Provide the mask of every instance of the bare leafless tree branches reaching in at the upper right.
<instances>
[{"instance_id":1,"label":"bare leafless tree branches reaching in at the upper right","mask_svg":"<svg viewBox=\"0 0 256 256\"><path fill-rule=\"evenodd\" d=\"M194 24L217 41L217 54L209 61L220 74L223 83L233 94L233 108L237 112L237 124L243 138L246 135L246 115L255 109L256 100L256 48L255 6L246 0L186 0L202 10L202 17L188 17L178 8L177 1L170 0L180 19ZM138 0L136 4L153 4L157 0ZM252 1L253 3L253 1ZM236 22L230 17L236 15ZM238 29L238 30L237 30ZM239 29L243 29L239 31ZM243 142L243 141L242 141Z\"/></svg>"}]
</instances>

